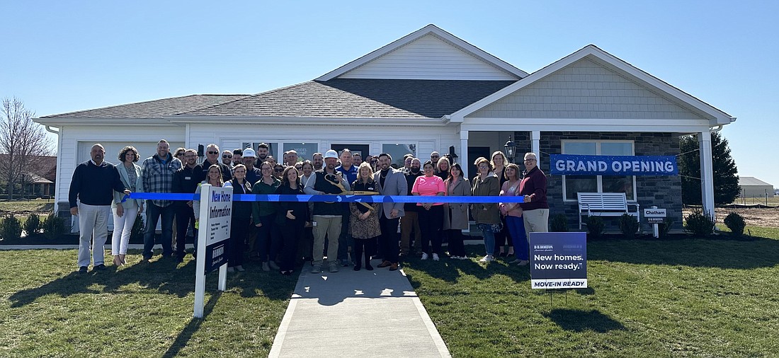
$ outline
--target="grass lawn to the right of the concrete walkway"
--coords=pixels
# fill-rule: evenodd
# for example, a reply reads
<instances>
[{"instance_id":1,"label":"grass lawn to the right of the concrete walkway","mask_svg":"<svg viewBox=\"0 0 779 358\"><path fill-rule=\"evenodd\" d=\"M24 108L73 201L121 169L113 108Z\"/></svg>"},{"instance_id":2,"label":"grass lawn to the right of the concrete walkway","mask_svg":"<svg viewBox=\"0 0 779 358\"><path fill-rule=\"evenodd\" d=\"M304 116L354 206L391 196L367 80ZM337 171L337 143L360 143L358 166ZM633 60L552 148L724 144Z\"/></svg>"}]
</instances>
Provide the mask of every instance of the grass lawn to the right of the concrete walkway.
<instances>
[{"instance_id":1,"label":"grass lawn to the right of the concrete walkway","mask_svg":"<svg viewBox=\"0 0 779 358\"><path fill-rule=\"evenodd\" d=\"M765 238L589 243L589 288L552 296L502 261L404 272L453 356L775 356L779 229L749 229Z\"/></svg>"}]
</instances>

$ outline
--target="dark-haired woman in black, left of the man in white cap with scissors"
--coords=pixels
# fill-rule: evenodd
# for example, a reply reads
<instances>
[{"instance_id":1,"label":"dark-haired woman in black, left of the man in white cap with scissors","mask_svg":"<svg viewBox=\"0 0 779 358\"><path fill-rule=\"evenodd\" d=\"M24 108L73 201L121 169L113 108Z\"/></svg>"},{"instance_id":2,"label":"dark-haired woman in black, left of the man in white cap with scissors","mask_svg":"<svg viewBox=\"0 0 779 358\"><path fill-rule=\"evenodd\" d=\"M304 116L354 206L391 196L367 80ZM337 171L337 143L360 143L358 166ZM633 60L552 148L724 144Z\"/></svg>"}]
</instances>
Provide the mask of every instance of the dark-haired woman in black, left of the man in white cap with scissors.
<instances>
[{"instance_id":1,"label":"dark-haired woman in black, left of the man in white cap with scissors","mask_svg":"<svg viewBox=\"0 0 779 358\"><path fill-rule=\"evenodd\" d=\"M276 194L302 195L298 170L287 167L281 175L281 185L276 188ZM282 275L291 275L294 270L295 253L298 251L298 240L303 237L303 228L308 219L307 202L277 202L276 223L281 232L281 261L279 267Z\"/></svg>"}]
</instances>

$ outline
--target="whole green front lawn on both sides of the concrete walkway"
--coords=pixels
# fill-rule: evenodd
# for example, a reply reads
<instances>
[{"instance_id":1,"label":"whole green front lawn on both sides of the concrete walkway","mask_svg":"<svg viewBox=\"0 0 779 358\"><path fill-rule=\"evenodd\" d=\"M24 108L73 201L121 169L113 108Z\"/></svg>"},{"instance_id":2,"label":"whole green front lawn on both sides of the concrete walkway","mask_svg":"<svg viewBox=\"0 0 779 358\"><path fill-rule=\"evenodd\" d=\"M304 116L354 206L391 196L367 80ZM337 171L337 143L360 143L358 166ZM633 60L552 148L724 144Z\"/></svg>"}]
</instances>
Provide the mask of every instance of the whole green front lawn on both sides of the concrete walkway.
<instances>
[{"instance_id":1,"label":"whole green front lawn on both sides of the concrete walkway","mask_svg":"<svg viewBox=\"0 0 779 358\"><path fill-rule=\"evenodd\" d=\"M779 229L748 228L762 238L591 242L590 288L551 303L527 267L502 261L404 272L453 356L776 356ZM212 274L196 320L189 258L139 264L136 252L84 276L75 260L0 251L0 356L266 356L296 281L249 265L218 295Z\"/></svg>"}]
</instances>

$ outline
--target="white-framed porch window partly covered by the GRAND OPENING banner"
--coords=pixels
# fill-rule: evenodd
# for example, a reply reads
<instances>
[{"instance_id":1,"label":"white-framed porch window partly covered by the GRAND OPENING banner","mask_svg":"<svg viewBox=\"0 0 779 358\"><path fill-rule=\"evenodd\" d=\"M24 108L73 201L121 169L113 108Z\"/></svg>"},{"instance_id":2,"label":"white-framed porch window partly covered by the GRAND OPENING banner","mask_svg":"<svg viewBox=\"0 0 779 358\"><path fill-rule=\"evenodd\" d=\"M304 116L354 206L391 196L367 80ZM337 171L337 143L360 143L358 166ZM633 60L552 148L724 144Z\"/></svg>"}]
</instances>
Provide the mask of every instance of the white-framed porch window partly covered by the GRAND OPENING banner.
<instances>
[{"instance_id":1,"label":"white-framed porch window partly covered by the GRAND OPENING banner","mask_svg":"<svg viewBox=\"0 0 779 358\"><path fill-rule=\"evenodd\" d=\"M562 142L563 154L587 156L633 156L633 141ZM625 193L629 201L636 200L636 177L633 175L563 175L562 191L566 201L575 201L578 192Z\"/></svg>"}]
</instances>

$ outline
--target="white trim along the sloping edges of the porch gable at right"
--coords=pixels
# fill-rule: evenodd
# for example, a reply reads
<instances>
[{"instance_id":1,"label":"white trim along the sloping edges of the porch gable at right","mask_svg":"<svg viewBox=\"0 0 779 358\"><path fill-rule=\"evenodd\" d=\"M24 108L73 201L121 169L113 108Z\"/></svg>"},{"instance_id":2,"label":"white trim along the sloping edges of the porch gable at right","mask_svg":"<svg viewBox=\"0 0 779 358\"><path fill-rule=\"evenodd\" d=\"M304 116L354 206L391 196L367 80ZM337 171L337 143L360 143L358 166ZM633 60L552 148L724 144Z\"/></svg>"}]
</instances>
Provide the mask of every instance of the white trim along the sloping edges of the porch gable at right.
<instances>
[{"instance_id":1,"label":"white trim along the sloping edges of the porch gable at right","mask_svg":"<svg viewBox=\"0 0 779 358\"><path fill-rule=\"evenodd\" d=\"M492 95L485 97L478 102L463 108L460 111L457 111L452 115L452 121L463 121L465 116L473 114L481 108L487 107L489 104L494 103L496 100L500 100L503 97L509 96L518 90L530 86L534 82L541 81L541 79L544 79L546 76L551 75L552 73L555 73L560 69L565 68L566 66L571 65L576 61L579 61L582 58L587 58L590 61L594 61L599 65L603 65L615 72L618 72L626 79L629 79L640 84L640 86L652 90L654 93L657 93L657 95L671 100L676 104L679 104L679 106L699 114L703 118L710 118L712 125L727 125L732 121L735 121L735 118L731 117L730 114L727 114L724 111L720 111L710 104L707 104L702 100L689 95L689 93L671 86L668 84L668 82L664 82L661 79L657 79L657 77L648 74L647 72L643 72L639 68L630 65L626 61L622 61L621 59L616 58L612 54L601 50L593 44L587 45L586 47L581 48L579 51L576 51L573 54L569 54L568 56L555 61L551 65L533 72L521 81L518 81L511 86L507 86L498 92L492 93Z\"/></svg>"}]
</instances>

